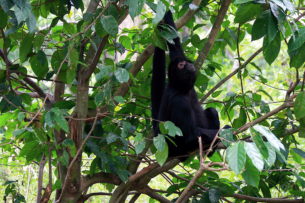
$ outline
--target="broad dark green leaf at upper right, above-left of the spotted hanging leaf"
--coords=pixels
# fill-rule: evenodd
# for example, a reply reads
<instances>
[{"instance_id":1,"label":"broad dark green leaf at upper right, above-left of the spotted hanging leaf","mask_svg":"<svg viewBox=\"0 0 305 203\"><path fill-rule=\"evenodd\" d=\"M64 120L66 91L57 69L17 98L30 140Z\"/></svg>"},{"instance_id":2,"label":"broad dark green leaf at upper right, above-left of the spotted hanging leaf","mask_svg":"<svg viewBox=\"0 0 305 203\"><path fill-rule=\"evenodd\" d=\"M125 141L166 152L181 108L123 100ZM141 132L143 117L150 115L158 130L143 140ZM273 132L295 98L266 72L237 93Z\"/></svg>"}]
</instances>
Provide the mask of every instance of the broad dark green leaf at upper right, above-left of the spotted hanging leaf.
<instances>
[{"instance_id":1,"label":"broad dark green leaf at upper right, above-left of the spotted hanging leaf","mask_svg":"<svg viewBox=\"0 0 305 203\"><path fill-rule=\"evenodd\" d=\"M236 1L235 1L236 2ZM234 3L235 3L234 2ZM264 11L254 21L251 31L251 41L258 40L268 33L269 12Z\"/></svg>"}]
</instances>

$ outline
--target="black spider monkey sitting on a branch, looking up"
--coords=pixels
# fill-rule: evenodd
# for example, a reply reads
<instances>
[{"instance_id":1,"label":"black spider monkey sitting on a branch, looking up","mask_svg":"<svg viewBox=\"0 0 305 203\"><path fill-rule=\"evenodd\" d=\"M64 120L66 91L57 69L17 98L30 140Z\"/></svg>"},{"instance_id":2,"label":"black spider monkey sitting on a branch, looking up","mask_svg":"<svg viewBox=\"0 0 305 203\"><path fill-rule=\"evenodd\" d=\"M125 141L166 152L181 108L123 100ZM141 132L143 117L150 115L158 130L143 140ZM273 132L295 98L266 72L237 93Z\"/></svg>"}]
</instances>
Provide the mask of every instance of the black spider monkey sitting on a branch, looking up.
<instances>
[{"instance_id":1,"label":"black spider monkey sitting on a branch, looking up","mask_svg":"<svg viewBox=\"0 0 305 203\"><path fill-rule=\"evenodd\" d=\"M163 20L165 24L177 30L170 10L167 11ZM176 135L172 138L177 147L167 139L169 157L187 155L197 149L199 136L204 144L210 145L220 129L217 110L212 107L203 110L200 106L194 89L196 70L185 57L180 38L173 40L175 44L167 42L170 58L167 86L165 85L165 51L159 47L155 47L153 54L151 82L152 118L173 122L183 134L183 136ZM159 122L153 120L152 126L155 136L158 136ZM231 126L226 125L224 128L231 128ZM210 156L212 154L213 152L209 153ZM181 161L185 159L187 157L180 158Z\"/></svg>"}]
</instances>

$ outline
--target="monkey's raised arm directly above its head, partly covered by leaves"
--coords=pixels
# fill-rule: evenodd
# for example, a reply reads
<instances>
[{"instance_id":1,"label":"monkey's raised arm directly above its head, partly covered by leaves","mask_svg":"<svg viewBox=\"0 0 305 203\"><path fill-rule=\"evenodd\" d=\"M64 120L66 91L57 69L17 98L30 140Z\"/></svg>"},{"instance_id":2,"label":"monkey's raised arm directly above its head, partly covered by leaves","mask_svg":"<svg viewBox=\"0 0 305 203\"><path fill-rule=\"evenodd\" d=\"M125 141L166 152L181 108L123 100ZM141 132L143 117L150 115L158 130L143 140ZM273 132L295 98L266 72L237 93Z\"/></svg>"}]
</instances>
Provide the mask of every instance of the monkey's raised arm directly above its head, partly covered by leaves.
<instances>
[{"instance_id":1,"label":"monkey's raised arm directly above its head, partly covered by leaves","mask_svg":"<svg viewBox=\"0 0 305 203\"><path fill-rule=\"evenodd\" d=\"M177 30L177 27L175 25L173 14L170 10L168 10L164 16L164 23L167 25L172 26L175 30ZM173 39L175 44L170 44L167 42L168 51L170 52L170 61L173 60L175 57L185 58L185 54L182 50L180 38L176 37Z\"/></svg>"}]
</instances>

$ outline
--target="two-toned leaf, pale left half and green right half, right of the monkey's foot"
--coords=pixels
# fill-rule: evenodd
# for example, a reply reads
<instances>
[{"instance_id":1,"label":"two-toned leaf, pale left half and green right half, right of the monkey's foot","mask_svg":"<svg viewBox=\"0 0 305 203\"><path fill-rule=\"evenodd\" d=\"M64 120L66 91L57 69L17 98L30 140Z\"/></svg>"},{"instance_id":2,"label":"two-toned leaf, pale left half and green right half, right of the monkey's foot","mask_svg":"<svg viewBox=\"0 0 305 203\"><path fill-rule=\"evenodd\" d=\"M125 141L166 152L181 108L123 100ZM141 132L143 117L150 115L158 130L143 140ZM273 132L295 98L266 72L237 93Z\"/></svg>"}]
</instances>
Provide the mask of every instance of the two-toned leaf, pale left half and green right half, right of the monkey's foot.
<instances>
[{"instance_id":1,"label":"two-toned leaf, pale left half and green right half, right of the monkey's foot","mask_svg":"<svg viewBox=\"0 0 305 203\"><path fill-rule=\"evenodd\" d=\"M246 163L244 143L241 141L232 143L227 149L226 159L231 170L238 175Z\"/></svg>"}]
</instances>

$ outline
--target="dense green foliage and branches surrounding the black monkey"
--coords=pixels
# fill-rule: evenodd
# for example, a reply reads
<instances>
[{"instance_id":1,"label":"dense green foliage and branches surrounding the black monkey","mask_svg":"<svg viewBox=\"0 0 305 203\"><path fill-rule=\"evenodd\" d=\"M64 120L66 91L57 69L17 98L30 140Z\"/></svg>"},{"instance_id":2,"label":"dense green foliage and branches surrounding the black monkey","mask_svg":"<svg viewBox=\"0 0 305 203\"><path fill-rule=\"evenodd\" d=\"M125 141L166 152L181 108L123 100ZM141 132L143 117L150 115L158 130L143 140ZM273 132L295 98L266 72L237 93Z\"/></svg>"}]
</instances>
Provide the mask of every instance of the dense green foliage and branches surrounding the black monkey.
<instances>
[{"instance_id":1,"label":"dense green foliage and branches surrounding the black monkey","mask_svg":"<svg viewBox=\"0 0 305 203\"><path fill-rule=\"evenodd\" d=\"M303 1L0 3L5 202L303 202ZM168 9L179 32L156 28ZM154 137L150 119L154 46L180 35L203 108L232 126L213 156L181 164L165 142L180 129Z\"/></svg>"}]
</instances>

